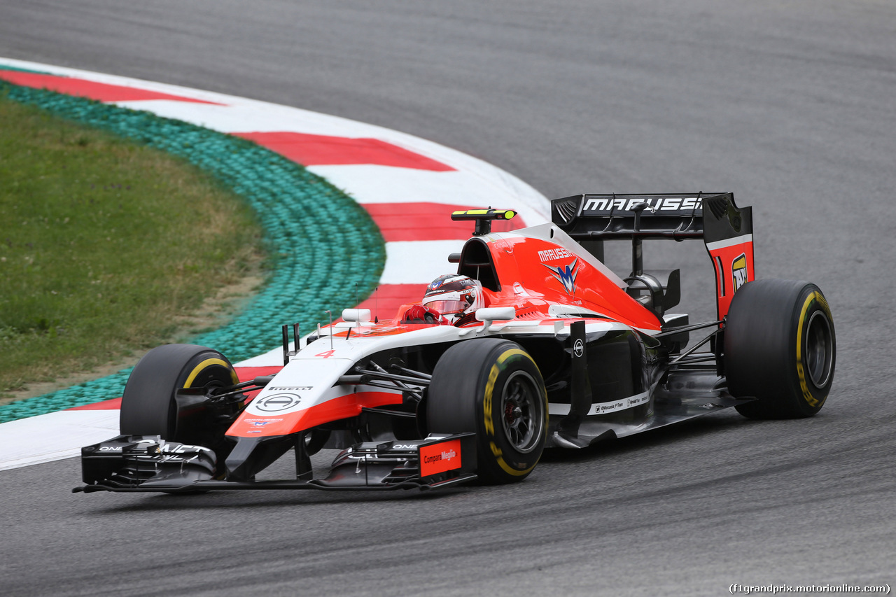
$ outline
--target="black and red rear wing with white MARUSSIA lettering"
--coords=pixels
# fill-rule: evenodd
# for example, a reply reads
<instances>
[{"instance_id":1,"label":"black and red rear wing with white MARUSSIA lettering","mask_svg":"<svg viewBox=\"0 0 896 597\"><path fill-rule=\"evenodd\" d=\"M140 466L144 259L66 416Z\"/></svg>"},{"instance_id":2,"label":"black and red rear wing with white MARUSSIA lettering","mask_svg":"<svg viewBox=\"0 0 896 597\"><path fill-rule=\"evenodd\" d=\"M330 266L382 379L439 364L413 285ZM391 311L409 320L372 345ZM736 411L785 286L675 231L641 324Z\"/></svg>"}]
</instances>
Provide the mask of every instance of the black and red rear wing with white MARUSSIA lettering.
<instances>
[{"instance_id":1,"label":"black and red rear wing with white MARUSSIA lettering","mask_svg":"<svg viewBox=\"0 0 896 597\"><path fill-rule=\"evenodd\" d=\"M754 280L753 210L737 207L731 193L573 195L551 202L551 221L601 261L604 240L631 239L640 259L645 238L702 239L716 273L719 319L737 289Z\"/></svg>"}]
</instances>

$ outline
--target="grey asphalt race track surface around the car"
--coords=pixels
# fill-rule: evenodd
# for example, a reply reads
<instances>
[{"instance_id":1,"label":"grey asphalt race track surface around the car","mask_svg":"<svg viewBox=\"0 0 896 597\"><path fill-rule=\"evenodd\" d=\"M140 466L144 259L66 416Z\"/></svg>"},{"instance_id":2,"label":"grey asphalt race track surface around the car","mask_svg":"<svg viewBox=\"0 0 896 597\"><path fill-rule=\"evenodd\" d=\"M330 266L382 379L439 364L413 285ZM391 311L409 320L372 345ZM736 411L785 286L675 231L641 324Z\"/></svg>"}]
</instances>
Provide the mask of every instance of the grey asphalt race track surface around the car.
<instances>
[{"instance_id":1,"label":"grey asphalt race track surface around the car","mask_svg":"<svg viewBox=\"0 0 896 597\"><path fill-rule=\"evenodd\" d=\"M714 413L551 454L514 487L84 496L75 460L0 472L0 593L896 581L896 4L3 0L0 56L389 126L548 196L733 191L754 206L759 277L816 282L839 350L813 419ZM702 248L668 248L646 261L684 264L708 314Z\"/></svg>"}]
</instances>

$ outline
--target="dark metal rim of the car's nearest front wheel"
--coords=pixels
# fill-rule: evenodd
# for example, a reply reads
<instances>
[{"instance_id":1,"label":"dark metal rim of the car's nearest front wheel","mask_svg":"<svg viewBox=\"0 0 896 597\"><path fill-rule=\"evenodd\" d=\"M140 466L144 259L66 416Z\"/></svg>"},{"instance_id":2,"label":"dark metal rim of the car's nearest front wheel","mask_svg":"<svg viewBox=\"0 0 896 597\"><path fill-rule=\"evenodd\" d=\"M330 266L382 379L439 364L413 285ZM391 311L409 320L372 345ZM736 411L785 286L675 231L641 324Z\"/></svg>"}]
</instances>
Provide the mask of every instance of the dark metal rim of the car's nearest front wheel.
<instances>
[{"instance_id":1,"label":"dark metal rim of the car's nearest front wheel","mask_svg":"<svg viewBox=\"0 0 896 597\"><path fill-rule=\"evenodd\" d=\"M526 454L538 446L544 416L541 395L535 380L525 371L516 371L504 384L501 422L504 437L517 452Z\"/></svg>"}]
</instances>

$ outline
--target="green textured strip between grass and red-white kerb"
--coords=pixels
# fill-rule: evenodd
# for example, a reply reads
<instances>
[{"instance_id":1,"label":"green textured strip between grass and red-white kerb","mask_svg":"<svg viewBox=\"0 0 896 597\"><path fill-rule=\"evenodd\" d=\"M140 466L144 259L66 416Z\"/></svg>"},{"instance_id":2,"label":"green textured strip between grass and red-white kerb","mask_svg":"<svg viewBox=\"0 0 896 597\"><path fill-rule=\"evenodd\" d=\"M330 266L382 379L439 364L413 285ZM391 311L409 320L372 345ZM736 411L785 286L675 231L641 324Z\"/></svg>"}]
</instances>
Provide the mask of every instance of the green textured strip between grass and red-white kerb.
<instances>
[{"instance_id":1,"label":"green textured strip between grass and red-white kerb","mask_svg":"<svg viewBox=\"0 0 896 597\"><path fill-rule=\"evenodd\" d=\"M185 158L258 213L276 259L269 283L230 324L192 339L239 361L280 345L280 325L303 333L366 299L385 264L385 243L358 203L321 177L255 143L149 112L0 82L9 99ZM0 423L120 396L130 369L0 406Z\"/></svg>"}]
</instances>

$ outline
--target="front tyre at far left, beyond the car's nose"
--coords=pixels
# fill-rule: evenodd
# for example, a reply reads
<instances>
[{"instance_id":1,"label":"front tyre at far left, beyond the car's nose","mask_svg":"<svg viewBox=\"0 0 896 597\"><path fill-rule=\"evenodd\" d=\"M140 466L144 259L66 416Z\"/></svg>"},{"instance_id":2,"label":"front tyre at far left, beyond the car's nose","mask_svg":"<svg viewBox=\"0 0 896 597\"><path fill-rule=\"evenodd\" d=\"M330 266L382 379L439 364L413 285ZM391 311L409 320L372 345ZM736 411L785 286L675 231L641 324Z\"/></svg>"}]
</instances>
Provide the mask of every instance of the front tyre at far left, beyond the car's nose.
<instances>
[{"instance_id":1,"label":"front tyre at far left, beyond the car's nose","mask_svg":"<svg viewBox=\"0 0 896 597\"><path fill-rule=\"evenodd\" d=\"M140 359L127 380L121 401L121 434L161 436L169 441L202 435L202 430L177 428L177 390L238 382L233 365L218 350L195 344L157 346Z\"/></svg>"}]
</instances>

